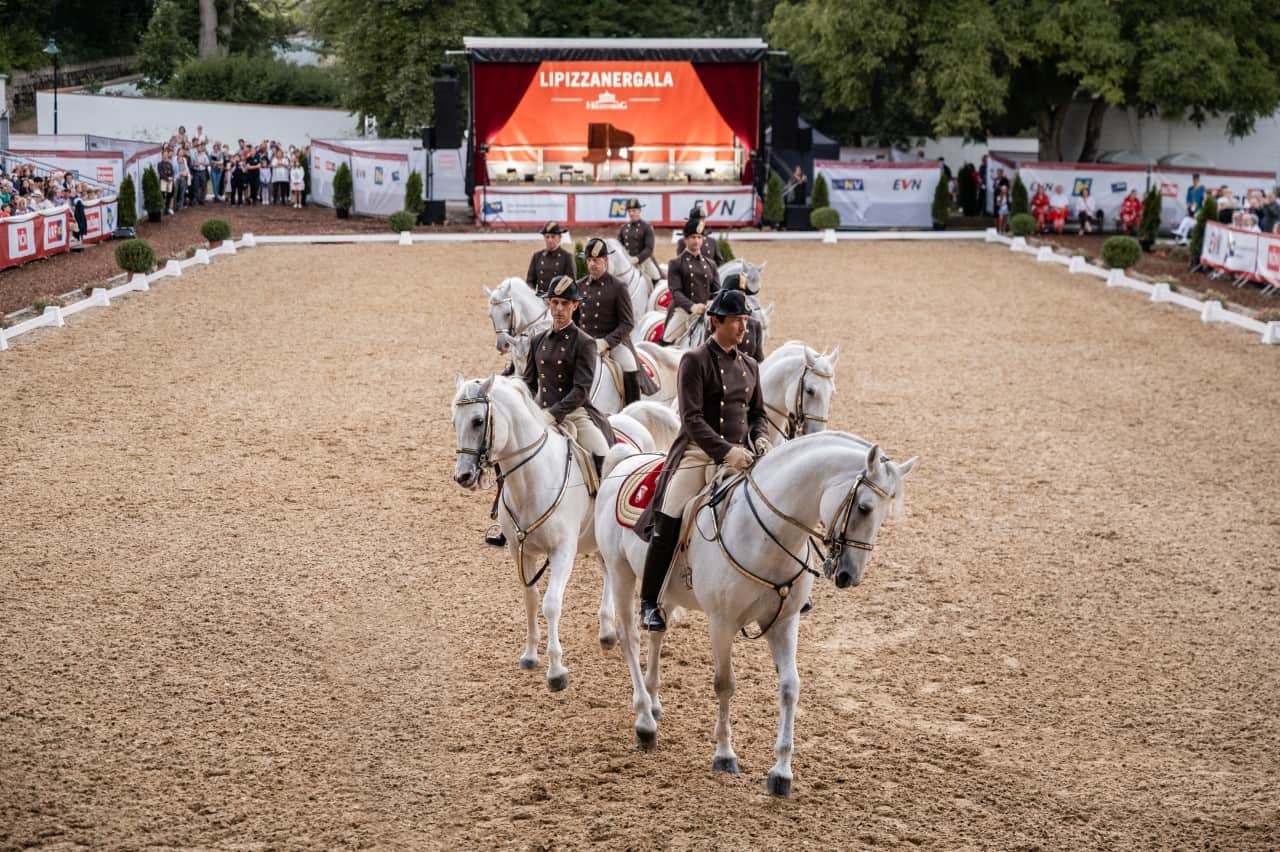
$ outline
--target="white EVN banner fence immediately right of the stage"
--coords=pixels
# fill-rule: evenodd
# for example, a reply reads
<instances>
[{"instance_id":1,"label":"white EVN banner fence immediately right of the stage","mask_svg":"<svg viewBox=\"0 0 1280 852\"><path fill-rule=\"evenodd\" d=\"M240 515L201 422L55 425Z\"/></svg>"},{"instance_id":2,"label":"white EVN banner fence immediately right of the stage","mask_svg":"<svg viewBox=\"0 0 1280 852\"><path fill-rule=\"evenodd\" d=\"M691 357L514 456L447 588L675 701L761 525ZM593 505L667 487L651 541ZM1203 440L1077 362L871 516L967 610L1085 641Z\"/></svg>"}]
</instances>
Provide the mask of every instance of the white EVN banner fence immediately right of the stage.
<instances>
[{"instance_id":1,"label":"white EVN banner fence immediately right of the stage","mask_svg":"<svg viewBox=\"0 0 1280 852\"><path fill-rule=\"evenodd\" d=\"M942 171L937 162L814 160L827 179L841 228L929 228L929 207Z\"/></svg>"}]
</instances>

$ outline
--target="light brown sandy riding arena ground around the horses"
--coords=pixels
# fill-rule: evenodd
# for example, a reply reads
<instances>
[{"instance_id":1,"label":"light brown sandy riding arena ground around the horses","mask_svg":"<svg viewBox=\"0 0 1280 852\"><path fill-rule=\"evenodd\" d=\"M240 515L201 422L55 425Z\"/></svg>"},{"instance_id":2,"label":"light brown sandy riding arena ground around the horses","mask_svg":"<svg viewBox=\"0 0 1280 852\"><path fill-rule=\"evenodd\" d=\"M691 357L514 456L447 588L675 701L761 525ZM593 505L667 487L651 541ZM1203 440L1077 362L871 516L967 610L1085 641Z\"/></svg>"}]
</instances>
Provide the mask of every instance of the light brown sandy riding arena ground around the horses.
<instances>
[{"instance_id":1,"label":"light brown sandy riding arena ground around the horses","mask_svg":"<svg viewBox=\"0 0 1280 852\"><path fill-rule=\"evenodd\" d=\"M733 778L700 618L634 748L594 560L570 688L516 668L448 413L527 251L259 248L0 354L0 846L1280 846L1280 351L980 244L751 246L833 426L920 457L776 801L763 643Z\"/></svg>"}]
</instances>

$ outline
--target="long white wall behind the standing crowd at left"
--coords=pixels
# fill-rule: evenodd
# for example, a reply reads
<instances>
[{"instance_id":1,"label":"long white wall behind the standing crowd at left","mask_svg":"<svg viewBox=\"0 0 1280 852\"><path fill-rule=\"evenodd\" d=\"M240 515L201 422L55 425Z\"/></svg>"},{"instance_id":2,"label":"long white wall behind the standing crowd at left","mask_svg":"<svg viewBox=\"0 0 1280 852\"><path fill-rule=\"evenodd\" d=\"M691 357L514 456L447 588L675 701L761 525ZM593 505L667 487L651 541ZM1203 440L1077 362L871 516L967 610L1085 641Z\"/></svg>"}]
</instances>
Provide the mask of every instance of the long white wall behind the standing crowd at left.
<instances>
[{"instance_id":1,"label":"long white wall behind the standing crowd at left","mask_svg":"<svg viewBox=\"0 0 1280 852\"><path fill-rule=\"evenodd\" d=\"M234 145L278 139L306 145L312 138L358 136L356 116L344 110L311 106L178 101L152 97L115 97L82 92L58 93L58 132L93 133L122 139L166 141L186 125L188 133L204 125L214 142ZM36 93L36 125L40 133L54 132L54 95Z\"/></svg>"}]
</instances>

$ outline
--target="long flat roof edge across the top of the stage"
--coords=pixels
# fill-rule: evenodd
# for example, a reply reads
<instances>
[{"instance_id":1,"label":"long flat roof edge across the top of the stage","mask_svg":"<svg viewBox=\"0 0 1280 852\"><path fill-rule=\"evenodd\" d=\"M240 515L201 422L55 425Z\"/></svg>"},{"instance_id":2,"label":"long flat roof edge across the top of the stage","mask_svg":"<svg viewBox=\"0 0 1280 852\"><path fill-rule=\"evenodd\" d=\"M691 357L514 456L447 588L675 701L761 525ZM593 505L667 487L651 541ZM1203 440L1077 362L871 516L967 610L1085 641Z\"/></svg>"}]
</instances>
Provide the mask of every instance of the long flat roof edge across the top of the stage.
<instances>
[{"instance_id":1,"label":"long flat roof edge across the top of the stage","mask_svg":"<svg viewBox=\"0 0 1280 852\"><path fill-rule=\"evenodd\" d=\"M686 61L758 63L759 38L479 38L462 40L475 63Z\"/></svg>"}]
</instances>

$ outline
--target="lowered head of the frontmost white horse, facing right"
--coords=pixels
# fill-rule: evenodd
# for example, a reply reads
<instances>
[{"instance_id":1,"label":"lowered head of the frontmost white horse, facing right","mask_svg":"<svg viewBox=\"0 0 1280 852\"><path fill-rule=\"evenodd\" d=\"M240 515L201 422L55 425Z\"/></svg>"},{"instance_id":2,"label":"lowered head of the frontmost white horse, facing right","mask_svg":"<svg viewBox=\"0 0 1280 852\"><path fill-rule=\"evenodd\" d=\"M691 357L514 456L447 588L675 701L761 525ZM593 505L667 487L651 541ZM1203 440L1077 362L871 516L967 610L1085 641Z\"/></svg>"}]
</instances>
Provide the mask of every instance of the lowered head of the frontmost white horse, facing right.
<instances>
[{"instance_id":1,"label":"lowered head of the frontmost white horse, facing right","mask_svg":"<svg viewBox=\"0 0 1280 852\"><path fill-rule=\"evenodd\" d=\"M854 440L865 445L861 439ZM914 457L901 464L891 462L879 444L870 444L865 452L863 471L852 481L828 489L822 498L823 526L828 530L823 571L835 580L836 588L863 582L881 525L886 518L901 516L902 480L915 467Z\"/></svg>"}]
</instances>

